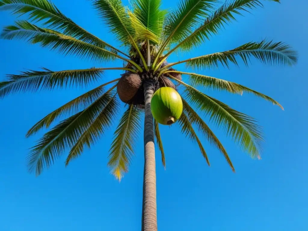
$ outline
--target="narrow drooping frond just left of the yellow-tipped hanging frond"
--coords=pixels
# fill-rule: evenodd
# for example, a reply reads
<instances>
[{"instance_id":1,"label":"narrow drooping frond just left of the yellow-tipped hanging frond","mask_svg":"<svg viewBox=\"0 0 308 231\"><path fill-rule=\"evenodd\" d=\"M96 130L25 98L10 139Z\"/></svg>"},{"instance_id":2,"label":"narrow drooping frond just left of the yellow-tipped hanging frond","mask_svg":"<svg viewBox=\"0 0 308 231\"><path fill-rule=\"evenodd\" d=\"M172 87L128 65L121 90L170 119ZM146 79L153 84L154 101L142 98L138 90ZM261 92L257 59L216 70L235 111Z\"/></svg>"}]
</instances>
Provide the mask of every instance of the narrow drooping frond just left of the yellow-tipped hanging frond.
<instances>
[{"instance_id":1,"label":"narrow drooping frond just left of the yellow-tipped hanging frond","mask_svg":"<svg viewBox=\"0 0 308 231\"><path fill-rule=\"evenodd\" d=\"M74 160L81 156L84 146L91 148L92 144L95 144L103 133L109 128L112 122L115 120L117 113L119 112L120 104L115 98L117 93L106 103L103 110L99 113L92 124L87 128L85 132L79 137L76 144L71 149L66 159L66 166L71 160Z\"/></svg>"}]
</instances>

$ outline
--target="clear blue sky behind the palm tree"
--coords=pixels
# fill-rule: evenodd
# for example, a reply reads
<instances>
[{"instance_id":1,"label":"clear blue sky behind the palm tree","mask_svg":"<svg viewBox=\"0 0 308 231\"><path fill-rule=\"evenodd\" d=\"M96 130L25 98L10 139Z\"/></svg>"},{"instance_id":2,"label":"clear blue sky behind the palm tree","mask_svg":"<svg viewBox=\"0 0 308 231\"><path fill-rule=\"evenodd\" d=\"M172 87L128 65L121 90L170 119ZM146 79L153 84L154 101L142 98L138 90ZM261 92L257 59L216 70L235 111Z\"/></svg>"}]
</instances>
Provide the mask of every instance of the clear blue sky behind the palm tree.
<instances>
[{"instance_id":1,"label":"clear blue sky behind the palm tree","mask_svg":"<svg viewBox=\"0 0 308 231\"><path fill-rule=\"evenodd\" d=\"M87 0L54 0L69 18L106 42L118 45ZM125 4L128 1L124 2ZM164 1L164 8L177 1ZM268 67L253 60L250 68L204 70L201 74L235 81L276 99L285 108L244 94L208 92L260 121L266 134L262 160L251 160L215 128L236 169L203 140L209 168L196 144L180 135L178 126L161 127L166 153L164 170L156 153L158 227L164 230L308 230L307 148L307 9L304 0L264 2L221 35L189 56L225 51L263 38L284 41L299 51L298 65ZM0 12L0 27L15 17ZM0 41L0 80L23 68L81 69L105 64L50 52L19 41ZM188 57L173 56L170 62ZM113 67L121 62L111 64ZM110 65L109 65L110 66ZM179 65L178 69L184 66ZM190 71L190 70L188 70ZM106 72L105 81L121 72ZM104 81L104 82L105 82ZM96 84L97 85L97 84ZM91 86L90 88L93 88ZM89 89L90 89L89 88ZM43 135L29 139L27 130L49 112L88 89L18 94L0 101L0 230L83 231L140 230L143 180L142 132L130 171L121 183L109 174L107 156L112 134L64 167L65 156L41 176L26 171L28 148ZM120 116L120 115L119 115ZM143 124L143 123L141 123ZM156 149L158 150L158 149Z\"/></svg>"}]
</instances>

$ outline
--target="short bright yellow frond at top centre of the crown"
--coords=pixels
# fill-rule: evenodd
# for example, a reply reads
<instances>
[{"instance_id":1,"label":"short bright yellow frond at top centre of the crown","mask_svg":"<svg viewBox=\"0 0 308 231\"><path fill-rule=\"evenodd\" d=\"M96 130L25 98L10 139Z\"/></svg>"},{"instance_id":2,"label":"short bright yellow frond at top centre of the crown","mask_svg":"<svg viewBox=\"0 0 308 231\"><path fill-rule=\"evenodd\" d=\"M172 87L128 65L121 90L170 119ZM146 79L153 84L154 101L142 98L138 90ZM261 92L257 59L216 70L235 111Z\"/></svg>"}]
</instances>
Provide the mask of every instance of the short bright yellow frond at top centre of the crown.
<instances>
[{"instance_id":1,"label":"short bright yellow frond at top centre of the crown","mask_svg":"<svg viewBox=\"0 0 308 231\"><path fill-rule=\"evenodd\" d=\"M144 41L146 39L151 40L154 43L159 43L159 37L149 30L143 23L136 17L134 13L128 11L129 18L132 22L132 27L135 29L136 41Z\"/></svg>"}]
</instances>

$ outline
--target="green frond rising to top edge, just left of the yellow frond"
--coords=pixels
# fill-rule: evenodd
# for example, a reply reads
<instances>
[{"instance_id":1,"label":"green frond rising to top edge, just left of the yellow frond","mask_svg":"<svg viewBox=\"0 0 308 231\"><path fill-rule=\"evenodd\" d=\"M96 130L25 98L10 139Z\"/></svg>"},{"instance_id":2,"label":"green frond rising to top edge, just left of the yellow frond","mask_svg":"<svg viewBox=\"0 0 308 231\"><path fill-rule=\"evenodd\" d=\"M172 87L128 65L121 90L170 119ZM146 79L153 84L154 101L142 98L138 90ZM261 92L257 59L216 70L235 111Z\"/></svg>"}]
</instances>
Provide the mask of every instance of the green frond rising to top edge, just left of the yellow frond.
<instances>
[{"instance_id":1,"label":"green frond rising to top edge, just left of the yellow frond","mask_svg":"<svg viewBox=\"0 0 308 231\"><path fill-rule=\"evenodd\" d=\"M135 31L121 0L92 1L95 9L99 12L99 16L105 21L111 32L116 35L117 39L119 39L124 45L132 45L136 49L145 69L147 70L147 63L134 40Z\"/></svg>"}]
</instances>

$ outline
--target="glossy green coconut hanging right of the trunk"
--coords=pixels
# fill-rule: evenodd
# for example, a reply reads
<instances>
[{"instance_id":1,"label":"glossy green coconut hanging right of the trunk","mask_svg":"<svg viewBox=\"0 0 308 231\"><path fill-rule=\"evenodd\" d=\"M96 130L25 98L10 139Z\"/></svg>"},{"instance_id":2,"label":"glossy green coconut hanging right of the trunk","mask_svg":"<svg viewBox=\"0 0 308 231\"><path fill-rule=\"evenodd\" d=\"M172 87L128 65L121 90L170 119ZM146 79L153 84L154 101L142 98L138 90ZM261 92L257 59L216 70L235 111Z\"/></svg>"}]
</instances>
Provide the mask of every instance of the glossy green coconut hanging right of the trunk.
<instances>
[{"instance_id":1,"label":"glossy green coconut hanging right of the trunk","mask_svg":"<svg viewBox=\"0 0 308 231\"><path fill-rule=\"evenodd\" d=\"M172 87L160 87L152 96L151 111L158 123L173 124L180 118L183 111L180 94Z\"/></svg>"}]
</instances>

